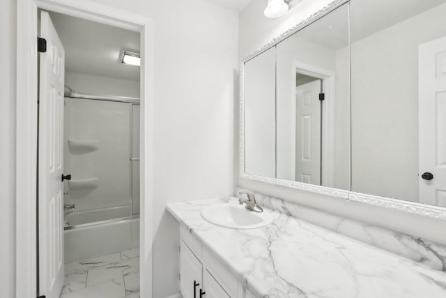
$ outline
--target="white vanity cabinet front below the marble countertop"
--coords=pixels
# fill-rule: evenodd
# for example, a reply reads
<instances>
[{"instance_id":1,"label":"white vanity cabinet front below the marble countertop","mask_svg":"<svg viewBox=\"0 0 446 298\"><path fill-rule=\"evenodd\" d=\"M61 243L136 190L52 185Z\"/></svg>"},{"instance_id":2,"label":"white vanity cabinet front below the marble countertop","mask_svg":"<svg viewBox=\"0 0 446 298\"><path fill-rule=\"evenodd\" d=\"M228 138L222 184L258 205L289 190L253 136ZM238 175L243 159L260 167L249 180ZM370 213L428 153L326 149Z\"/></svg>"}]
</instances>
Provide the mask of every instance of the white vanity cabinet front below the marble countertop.
<instances>
[{"instance_id":1,"label":"white vanity cabinet front below the marble countertop","mask_svg":"<svg viewBox=\"0 0 446 298\"><path fill-rule=\"evenodd\" d=\"M184 298L254 298L183 226L180 228L180 292Z\"/></svg>"}]
</instances>

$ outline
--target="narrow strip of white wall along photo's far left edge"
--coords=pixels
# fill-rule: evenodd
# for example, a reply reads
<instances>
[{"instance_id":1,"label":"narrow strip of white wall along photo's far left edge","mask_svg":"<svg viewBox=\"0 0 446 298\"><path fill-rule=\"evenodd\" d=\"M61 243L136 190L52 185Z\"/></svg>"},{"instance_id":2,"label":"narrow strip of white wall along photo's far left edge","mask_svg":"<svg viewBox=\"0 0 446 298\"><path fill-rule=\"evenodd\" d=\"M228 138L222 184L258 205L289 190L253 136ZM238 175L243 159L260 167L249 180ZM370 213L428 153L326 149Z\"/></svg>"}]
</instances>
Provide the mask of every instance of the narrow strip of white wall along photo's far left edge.
<instances>
[{"instance_id":1,"label":"narrow strip of white wall along photo's far left edge","mask_svg":"<svg viewBox=\"0 0 446 298\"><path fill-rule=\"evenodd\" d=\"M15 22L16 3L0 5L0 289L15 297Z\"/></svg>"}]
</instances>

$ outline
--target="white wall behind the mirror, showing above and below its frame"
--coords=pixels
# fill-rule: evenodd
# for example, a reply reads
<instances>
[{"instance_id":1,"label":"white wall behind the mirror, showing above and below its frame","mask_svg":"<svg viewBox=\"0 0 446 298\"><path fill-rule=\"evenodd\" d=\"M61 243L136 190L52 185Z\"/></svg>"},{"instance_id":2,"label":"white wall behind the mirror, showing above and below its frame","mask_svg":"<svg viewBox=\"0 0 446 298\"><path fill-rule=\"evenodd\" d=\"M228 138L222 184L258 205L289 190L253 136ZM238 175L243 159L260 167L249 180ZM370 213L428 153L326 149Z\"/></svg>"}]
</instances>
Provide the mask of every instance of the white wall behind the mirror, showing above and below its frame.
<instances>
[{"instance_id":1,"label":"white wall behind the mirror, showing above and below its frame","mask_svg":"<svg viewBox=\"0 0 446 298\"><path fill-rule=\"evenodd\" d=\"M266 5L265 1L253 1L240 13L240 59L261 45L268 43L275 36L279 36L280 33L286 31L293 24L305 20L305 18L329 2L326 0L304 0L292 8L285 17L270 20L263 16L263 9ZM236 119L237 117L238 115L236 115ZM238 159L236 159L235 166L238 166ZM243 188L252 189L259 193L274 195L348 218L355 218L359 221L373 223L385 228L407 232L418 237L424 237L446 244L446 234L438 232L446 229L446 221L438 221L433 218L415 216L406 212L372 207L367 204L349 202L304 191L296 191L291 188L272 186L247 179L239 178L238 184Z\"/></svg>"}]
</instances>

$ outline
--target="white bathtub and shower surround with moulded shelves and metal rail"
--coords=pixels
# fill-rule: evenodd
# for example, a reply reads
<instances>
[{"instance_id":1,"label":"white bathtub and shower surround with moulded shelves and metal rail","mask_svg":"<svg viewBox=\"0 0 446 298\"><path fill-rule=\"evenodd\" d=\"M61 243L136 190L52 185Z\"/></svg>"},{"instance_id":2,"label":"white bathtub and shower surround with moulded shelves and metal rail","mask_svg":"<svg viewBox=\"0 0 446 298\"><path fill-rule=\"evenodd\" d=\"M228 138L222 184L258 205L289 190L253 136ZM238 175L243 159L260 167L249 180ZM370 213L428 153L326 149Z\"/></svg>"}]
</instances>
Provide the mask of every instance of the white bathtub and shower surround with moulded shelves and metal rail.
<instances>
[{"instance_id":1,"label":"white bathtub and shower surround with moulded shelves and metal rail","mask_svg":"<svg viewBox=\"0 0 446 298\"><path fill-rule=\"evenodd\" d=\"M139 99L66 88L66 262L139 246Z\"/></svg>"}]
</instances>

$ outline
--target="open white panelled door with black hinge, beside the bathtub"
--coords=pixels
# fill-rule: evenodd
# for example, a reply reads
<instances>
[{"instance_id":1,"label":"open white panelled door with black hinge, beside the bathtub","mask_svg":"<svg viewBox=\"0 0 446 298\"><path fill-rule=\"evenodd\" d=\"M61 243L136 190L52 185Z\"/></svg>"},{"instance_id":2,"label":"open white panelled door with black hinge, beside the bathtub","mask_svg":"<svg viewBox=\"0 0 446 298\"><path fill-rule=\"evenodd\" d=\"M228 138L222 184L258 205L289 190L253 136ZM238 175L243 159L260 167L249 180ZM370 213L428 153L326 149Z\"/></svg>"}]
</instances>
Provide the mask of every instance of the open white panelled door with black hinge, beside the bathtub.
<instances>
[{"instance_id":1,"label":"open white panelled door with black hinge, beside the bathtub","mask_svg":"<svg viewBox=\"0 0 446 298\"><path fill-rule=\"evenodd\" d=\"M63 286L63 80L65 52L47 12L40 14L39 294L59 298Z\"/></svg>"}]
</instances>

